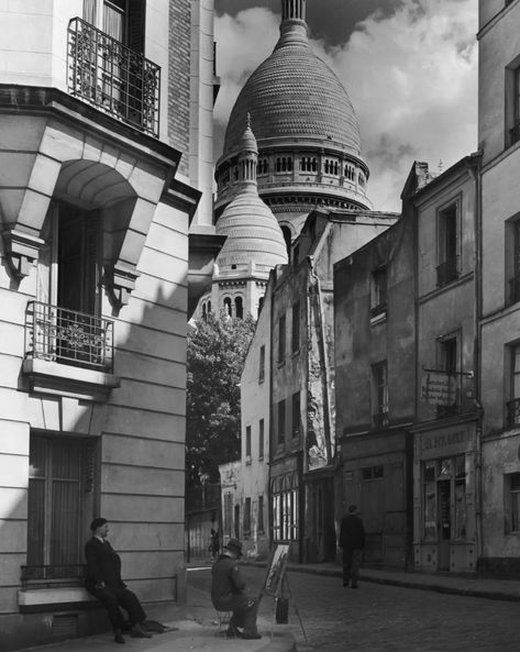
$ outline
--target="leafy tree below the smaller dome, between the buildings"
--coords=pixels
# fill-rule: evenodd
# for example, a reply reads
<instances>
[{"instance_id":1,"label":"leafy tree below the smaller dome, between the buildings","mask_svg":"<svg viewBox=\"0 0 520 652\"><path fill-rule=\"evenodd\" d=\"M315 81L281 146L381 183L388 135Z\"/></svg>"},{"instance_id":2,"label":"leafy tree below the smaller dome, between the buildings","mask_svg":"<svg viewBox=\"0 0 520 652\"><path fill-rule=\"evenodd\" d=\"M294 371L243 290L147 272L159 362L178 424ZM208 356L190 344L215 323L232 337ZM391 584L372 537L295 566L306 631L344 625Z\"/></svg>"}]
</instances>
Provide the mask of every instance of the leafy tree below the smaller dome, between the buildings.
<instances>
[{"instance_id":1,"label":"leafy tree below the smaller dome, between the buildings","mask_svg":"<svg viewBox=\"0 0 520 652\"><path fill-rule=\"evenodd\" d=\"M188 327L186 482L219 482L219 464L240 457L240 377L255 330L228 314Z\"/></svg>"}]
</instances>

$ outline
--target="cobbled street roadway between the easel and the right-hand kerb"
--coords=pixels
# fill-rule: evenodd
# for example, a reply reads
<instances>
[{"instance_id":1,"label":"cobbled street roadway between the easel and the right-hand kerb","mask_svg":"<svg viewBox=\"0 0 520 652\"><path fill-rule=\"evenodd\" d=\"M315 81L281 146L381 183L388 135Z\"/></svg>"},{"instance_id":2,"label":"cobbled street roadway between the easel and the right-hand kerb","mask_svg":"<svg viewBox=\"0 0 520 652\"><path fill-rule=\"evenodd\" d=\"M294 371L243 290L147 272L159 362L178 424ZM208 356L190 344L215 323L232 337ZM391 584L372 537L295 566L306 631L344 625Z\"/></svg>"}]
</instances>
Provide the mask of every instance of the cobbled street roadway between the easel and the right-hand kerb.
<instances>
[{"instance_id":1,"label":"cobbled street roadway between the easel and the right-hand kerb","mask_svg":"<svg viewBox=\"0 0 520 652\"><path fill-rule=\"evenodd\" d=\"M243 566L252 593L265 571ZM363 579L363 576L362 576ZM363 583L343 588L341 581L288 573L294 596L289 622L298 650L320 652L507 652L520 650L520 604L431 590ZM190 571L191 586L208 590L210 571ZM298 607L309 647L299 628ZM273 600L264 598L261 616L270 619ZM268 632L263 632L268 633Z\"/></svg>"}]
</instances>

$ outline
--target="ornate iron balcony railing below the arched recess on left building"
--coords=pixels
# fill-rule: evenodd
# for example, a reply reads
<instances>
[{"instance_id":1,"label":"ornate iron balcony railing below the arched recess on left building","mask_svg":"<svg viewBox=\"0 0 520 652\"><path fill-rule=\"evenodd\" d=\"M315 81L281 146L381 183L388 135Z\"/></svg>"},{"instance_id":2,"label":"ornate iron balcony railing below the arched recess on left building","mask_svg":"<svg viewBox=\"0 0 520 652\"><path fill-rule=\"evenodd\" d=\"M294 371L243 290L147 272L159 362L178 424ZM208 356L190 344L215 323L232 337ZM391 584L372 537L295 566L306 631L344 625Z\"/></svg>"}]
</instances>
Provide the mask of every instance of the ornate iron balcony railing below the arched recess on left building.
<instances>
[{"instance_id":1,"label":"ornate iron balcony railing below the arched recess on left building","mask_svg":"<svg viewBox=\"0 0 520 652\"><path fill-rule=\"evenodd\" d=\"M113 372L113 321L40 301L25 311L25 356Z\"/></svg>"}]
</instances>

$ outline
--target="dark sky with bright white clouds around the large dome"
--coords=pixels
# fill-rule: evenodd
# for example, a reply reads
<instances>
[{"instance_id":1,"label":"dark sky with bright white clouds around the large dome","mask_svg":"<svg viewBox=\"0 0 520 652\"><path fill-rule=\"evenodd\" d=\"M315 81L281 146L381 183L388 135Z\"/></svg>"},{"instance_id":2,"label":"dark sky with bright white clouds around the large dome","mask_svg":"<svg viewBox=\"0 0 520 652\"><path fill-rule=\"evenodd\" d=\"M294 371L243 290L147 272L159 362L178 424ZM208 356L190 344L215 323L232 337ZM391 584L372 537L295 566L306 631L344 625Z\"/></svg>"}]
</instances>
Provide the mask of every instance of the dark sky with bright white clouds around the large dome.
<instances>
[{"instance_id":1,"label":"dark sky with bright white clouds around the large dome","mask_svg":"<svg viewBox=\"0 0 520 652\"><path fill-rule=\"evenodd\" d=\"M413 161L477 150L477 0L308 0L310 44L354 104L375 210L400 210ZM280 0L215 0L215 159L230 111L279 35Z\"/></svg>"}]
</instances>

